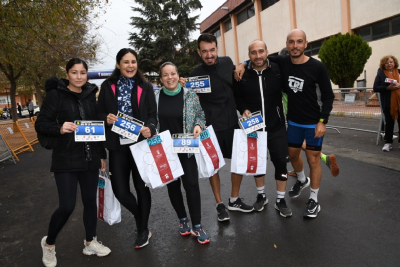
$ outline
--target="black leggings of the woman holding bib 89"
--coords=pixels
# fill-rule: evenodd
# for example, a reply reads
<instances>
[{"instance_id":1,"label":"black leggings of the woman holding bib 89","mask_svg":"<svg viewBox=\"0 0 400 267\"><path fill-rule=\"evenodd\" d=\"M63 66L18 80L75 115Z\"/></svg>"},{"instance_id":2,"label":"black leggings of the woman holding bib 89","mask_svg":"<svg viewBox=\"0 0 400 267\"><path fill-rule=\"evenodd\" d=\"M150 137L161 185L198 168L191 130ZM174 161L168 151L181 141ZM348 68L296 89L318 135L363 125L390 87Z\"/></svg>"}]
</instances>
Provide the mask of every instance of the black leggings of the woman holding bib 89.
<instances>
[{"instance_id":1,"label":"black leggings of the woman holding bib 89","mask_svg":"<svg viewBox=\"0 0 400 267\"><path fill-rule=\"evenodd\" d=\"M187 206L189 207L190 219L192 225L201 222L201 201L200 188L198 186L197 163L194 155L187 157L187 154L178 154L180 163L182 164L184 174L176 181L166 185L168 188L169 199L175 209L178 218L187 217L183 204L182 191L180 190L180 179L182 179L183 188L186 191Z\"/></svg>"}]
</instances>

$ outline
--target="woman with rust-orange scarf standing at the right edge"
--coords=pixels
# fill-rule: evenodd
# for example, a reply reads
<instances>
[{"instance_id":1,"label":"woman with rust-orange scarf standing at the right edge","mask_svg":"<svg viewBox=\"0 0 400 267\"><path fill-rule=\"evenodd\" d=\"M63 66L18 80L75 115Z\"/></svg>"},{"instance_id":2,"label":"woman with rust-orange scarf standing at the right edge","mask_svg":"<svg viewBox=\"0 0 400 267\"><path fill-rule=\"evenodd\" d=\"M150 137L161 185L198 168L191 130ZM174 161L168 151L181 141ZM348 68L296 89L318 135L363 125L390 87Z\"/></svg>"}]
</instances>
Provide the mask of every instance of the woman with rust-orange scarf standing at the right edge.
<instances>
[{"instance_id":1,"label":"woman with rust-orange scarf standing at the right edge","mask_svg":"<svg viewBox=\"0 0 400 267\"><path fill-rule=\"evenodd\" d=\"M380 103L385 119L385 137L382 151L389 151L393 143L394 122L398 121L400 110L400 83L398 60L393 55L385 55L380 59L379 69L373 82L373 91L380 93ZM392 81L386 80L386 78ZM399 139L400 142L400 139Z\"/></svg>"}]
</instances>

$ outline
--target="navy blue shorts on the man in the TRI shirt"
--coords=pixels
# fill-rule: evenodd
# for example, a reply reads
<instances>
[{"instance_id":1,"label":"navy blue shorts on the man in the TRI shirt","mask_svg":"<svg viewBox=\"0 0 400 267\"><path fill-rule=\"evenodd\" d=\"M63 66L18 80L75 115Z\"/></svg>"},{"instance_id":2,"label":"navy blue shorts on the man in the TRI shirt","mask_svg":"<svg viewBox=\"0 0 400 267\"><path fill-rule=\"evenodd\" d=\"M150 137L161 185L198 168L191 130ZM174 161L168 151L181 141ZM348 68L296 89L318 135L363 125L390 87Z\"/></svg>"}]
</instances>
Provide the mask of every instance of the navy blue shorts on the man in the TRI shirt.
<instances>
[{"instance_id":1,"label":"navy blue shorts on the man in the TRI shirt","mask_svg":"<svg viewBox=\"0 0 400 267\"><path fill-rule=\"evenodd\" d=\"M302 125L289 120L287 122L287 146L301 148L305 139L305 149L321 151L323 136L314 138L315 127L316 124Z\"/></svg>"}]
</instances>

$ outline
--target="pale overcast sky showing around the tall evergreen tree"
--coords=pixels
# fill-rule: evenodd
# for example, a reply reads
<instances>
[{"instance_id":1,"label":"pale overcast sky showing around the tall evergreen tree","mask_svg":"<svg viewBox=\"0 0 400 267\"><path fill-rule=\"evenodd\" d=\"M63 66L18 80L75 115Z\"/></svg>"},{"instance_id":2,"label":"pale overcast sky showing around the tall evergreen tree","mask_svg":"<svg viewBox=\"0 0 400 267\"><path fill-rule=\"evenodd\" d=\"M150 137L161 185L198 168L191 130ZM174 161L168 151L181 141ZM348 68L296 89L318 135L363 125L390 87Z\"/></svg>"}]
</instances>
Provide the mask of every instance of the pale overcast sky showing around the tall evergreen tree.
<instances>
[{"instance_id":1,"label":"pale overcast sky showing around the tall evergreen tree","mask_svg":"<svg viewBox=\"0 0 400 267\"><path fill-rule=\"evenodd\" d=\"M218 6L222 5L226 0L200 0L203 8L193 12L191 15L199 14L198 23L209 16ZM134 5L133 0L109 0L106 13L101 15L98 23L102 26L97 30L96 34L102 41L102 47L98 55L102 58L102 64L90 67L89 70L107 70L113 69L115 66L115 55L119 49L128 47L129 32L132 26L129 25L130 17L134 16L131 6ZM199 31L193 33L192 38L196 39ZM103 80L91 80L98 85Z\"/></svg>"}]
</instances>

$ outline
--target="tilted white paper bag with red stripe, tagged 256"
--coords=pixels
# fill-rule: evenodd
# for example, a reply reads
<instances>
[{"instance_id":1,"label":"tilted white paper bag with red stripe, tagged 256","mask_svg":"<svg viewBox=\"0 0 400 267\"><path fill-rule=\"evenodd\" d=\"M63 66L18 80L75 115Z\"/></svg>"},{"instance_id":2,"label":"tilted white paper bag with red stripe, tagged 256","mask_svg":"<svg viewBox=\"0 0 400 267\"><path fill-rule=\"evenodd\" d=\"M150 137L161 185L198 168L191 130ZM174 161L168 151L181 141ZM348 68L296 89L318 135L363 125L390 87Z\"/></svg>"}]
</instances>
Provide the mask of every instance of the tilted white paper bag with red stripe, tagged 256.
<instances>
[{"instance_id":1,"label":"tilted white paper bag with red stripe, tagged 256","mask_svg":"<svg viewBox=\"0 0 400 267\"><path fill-rule=\"evenodd\" d=\"M169 130L129 146L141 179L150 188L158 188L183 175L178 154L172 153Z\"/></svg>"}]
</instances>

